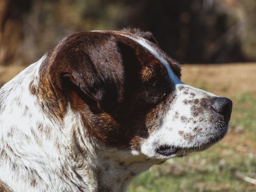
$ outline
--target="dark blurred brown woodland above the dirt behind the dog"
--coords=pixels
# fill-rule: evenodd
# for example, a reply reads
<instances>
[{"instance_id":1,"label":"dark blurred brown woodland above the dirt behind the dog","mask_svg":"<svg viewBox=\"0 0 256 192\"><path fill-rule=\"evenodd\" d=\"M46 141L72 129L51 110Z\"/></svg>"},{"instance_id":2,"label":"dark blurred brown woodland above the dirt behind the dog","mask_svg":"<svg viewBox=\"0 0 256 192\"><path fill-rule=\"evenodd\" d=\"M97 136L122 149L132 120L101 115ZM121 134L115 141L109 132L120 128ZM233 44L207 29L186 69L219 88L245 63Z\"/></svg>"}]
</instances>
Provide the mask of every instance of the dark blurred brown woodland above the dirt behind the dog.
<instances>
[{"instance_id":1,"label":"dark blurred brown woodland above the dirt behind the dog","mask_svg":"<svg viewBox=\"0 0 256 192\"><path fill-rule=\"evenodd\" d=\"M61 38L84 30L139 27L177 60L256 60L252 0L0 0L0 65L37 60Z\"/></svg>"}]
</instances>

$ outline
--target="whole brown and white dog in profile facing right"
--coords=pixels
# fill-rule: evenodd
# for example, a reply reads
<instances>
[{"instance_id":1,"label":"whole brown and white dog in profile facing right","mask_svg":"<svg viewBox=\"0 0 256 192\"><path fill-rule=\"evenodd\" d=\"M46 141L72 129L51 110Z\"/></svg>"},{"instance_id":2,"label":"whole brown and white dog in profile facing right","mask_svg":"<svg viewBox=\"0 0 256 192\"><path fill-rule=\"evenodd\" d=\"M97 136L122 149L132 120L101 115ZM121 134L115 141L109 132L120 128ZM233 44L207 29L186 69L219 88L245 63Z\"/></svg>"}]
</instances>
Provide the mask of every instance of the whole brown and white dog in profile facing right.
<instances>
[{"instance_id":1,"label":"whole brown and white dog in profile facing right","mask_svg":"<svg viewBox=\"0 0 256 192\"><path fill-rule=\"evenodd\" d=\"M187 86L149 32L79 32L0 90L0 191L125 191L224 137L232 102Z\"/></svg>"}]
</instances>

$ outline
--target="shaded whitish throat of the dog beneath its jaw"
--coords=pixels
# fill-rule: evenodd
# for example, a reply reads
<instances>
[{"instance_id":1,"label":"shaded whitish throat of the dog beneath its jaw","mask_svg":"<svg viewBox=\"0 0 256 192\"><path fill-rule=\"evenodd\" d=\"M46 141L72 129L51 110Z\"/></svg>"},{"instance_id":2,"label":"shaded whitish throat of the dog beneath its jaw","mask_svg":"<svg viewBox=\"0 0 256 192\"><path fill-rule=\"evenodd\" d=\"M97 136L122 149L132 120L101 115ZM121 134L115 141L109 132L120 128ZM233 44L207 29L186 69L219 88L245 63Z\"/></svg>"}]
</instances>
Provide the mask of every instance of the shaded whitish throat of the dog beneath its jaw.
<instances>
[{"instance_id":1,"label":"shaded whitish throat of the dog beneath its jaw","mask_svg":"<svg viewBox=\"0 0 256 192\"><path fill-rule=\"evenodd\" d=\"M132 151L103 147L96 138L83 138L83 135L88 135L87 127L79 122L79 114L68 110L67 117L73 117L67 124L76 122L71 149L74 171L82 181L93 183L95 191L126 191L133 178L160 163Z\"/></svg>"}]
</instances>

